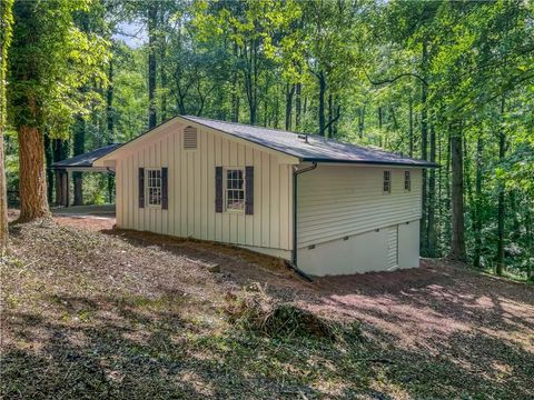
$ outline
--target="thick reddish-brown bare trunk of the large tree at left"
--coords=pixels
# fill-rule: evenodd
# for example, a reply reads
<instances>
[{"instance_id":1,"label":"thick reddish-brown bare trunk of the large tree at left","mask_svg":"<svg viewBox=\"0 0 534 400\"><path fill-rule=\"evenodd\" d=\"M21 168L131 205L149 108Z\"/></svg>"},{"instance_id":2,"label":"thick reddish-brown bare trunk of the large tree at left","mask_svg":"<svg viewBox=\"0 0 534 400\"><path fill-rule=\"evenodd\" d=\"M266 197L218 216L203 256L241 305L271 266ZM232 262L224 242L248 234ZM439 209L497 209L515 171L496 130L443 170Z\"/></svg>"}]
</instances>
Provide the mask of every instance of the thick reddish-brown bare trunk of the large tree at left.
<instances>
[{"instance_id":1,"label":"thick reddish-brown bare trunk of the large tree at left","mask_svg":"<svg viewBox=\"0 0 534 400\"><path fill-rule=\"evenodd\" d=\"M20 217L26 222L49 217L44 148L42 134L34 127L22 126L19 139Z\"/></svg>"}]
</instances>

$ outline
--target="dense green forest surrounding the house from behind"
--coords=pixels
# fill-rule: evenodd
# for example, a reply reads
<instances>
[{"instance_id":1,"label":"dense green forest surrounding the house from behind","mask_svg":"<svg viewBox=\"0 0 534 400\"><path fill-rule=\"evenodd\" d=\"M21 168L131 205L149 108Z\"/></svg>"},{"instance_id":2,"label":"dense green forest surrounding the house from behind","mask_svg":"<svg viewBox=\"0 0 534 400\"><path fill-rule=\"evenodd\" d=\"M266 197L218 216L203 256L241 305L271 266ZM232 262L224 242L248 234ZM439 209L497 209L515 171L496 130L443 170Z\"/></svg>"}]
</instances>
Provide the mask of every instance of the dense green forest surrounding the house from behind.
<instances>
[{"instance_id":1,"label":"dense green forest surrounding the house from behind","mask_svg":"<svg viewBox=\"0 0 534 400\"><path fill-rule=\"evenodd\" d=\"M0 43L2 248L8 202L59 201L48 166L194 114L436 162L421 254L533 274L532 1L1 0Z\"/></svg>"}]
</instances>

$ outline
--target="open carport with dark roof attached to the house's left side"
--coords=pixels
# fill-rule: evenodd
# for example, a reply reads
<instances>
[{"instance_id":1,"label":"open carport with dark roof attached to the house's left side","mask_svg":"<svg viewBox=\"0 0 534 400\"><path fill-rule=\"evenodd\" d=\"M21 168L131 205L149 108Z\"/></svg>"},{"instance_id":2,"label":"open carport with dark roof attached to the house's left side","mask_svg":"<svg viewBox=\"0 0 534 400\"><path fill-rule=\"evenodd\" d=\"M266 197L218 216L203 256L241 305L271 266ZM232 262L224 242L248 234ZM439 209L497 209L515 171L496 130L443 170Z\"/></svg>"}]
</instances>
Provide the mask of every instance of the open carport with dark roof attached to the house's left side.
<instances>
[{"instance_id":1,"label":"open carport with dark roof attached to the house's left side","mask_svg":"<svg viewBox=\"0 0 534 400\"><path fill-rule=\"evenodd\" d=\"M56 199L58 206L69 207L70 184L72 181L72 173L75 172L101 172L115 176L113 168L110 167L93 167L92 162L113 151L120 143L108 144L102 148L89 151L83 154L75 156L72 158L55 162L50 169L56 173Z\"/></svg>"}]
</instances>

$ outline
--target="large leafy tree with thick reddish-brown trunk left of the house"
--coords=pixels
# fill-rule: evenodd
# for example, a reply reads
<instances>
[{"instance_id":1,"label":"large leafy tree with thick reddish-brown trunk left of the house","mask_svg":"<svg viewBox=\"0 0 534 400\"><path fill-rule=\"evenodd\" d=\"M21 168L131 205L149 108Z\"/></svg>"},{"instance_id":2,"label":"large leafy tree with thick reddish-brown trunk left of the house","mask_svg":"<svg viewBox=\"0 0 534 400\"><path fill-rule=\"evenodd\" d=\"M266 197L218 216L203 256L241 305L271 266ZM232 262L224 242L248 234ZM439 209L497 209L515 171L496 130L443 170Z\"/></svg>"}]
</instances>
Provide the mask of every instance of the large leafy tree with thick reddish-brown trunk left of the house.
<instances>
[{"instance_id":1,"label":"large leafy tree with thick reddish-brown trunk left of the house","mask_svg":"<svg viewBox=\"0 0 534 400\"><path fill-rule=\"evenodd\" d=\"M81 32L73 13L88 1L16 2L17 21L9 58L9 111L19 141L20 220L49 216L43 129L66 137L73 117L95 93L80 94L89 81L105 81L107 43ZM66 99L69 99L66 101Z\"/></svg>"}]
</instances>

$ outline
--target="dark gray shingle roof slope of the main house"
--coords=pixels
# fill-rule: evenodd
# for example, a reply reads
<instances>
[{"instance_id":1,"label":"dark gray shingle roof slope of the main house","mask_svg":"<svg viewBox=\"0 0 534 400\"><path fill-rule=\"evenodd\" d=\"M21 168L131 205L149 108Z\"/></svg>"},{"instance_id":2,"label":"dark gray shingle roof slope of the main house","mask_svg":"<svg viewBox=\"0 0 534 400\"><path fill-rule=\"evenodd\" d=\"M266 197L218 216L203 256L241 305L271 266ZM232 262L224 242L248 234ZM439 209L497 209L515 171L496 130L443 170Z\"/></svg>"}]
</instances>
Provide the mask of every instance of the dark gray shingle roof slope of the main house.
<instances>
[{"instance_id":1,"label":"dark gray shingle roof slope of the main house","mask_svg":"<svg viewBox=\"0 0 534 400\"><path fill-rule=\"evenodd\" d=\"M304 134L277 129L192 116L181 116L181 118L297 157L303 161L437 167L433 162L415 160L375 148L325 139L316 134L309 134L306 142Z\"/></svg>"}]
</instances>

